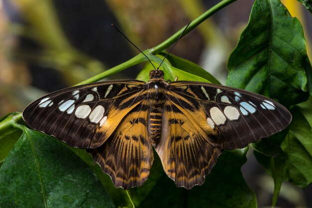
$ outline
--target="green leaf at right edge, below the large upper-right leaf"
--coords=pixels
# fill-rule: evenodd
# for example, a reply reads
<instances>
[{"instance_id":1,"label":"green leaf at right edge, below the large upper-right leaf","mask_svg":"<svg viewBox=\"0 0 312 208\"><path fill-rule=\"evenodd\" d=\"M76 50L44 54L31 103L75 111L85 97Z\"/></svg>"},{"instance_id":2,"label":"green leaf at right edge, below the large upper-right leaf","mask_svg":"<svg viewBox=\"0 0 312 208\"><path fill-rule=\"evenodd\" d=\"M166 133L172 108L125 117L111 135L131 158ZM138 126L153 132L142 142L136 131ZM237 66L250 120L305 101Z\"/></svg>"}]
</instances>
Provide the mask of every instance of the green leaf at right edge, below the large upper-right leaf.
<instances>
[{"instance_id":1,"label":"green leaf at right edge, below the large upper-right leaf","mask_svg":"<svg viewBox=\"0 0 312 208\"><path fill-rule=\"evenodd\" d=\"M312 99L310 98L301 106L311 104ZM303 112L305 109L303 108ZM290 124L289 134L282 143L282 149L287 155L286 172L289 181L305 188L312 183L312 117L311 108L309 114L303 114L301 110L302 108L298 106L291 109L293 120Z\"/></svg>"}]
</instances>

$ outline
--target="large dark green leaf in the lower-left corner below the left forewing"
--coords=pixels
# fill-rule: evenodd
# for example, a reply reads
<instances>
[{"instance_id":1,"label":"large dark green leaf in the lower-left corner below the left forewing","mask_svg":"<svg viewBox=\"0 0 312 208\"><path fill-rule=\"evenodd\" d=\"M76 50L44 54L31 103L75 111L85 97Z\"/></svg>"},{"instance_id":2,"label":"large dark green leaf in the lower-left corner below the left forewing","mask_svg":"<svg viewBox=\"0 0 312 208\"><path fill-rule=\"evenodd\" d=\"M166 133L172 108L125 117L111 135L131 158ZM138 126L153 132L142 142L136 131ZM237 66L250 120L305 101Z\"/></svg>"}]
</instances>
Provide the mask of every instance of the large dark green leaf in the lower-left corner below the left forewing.
<instances>
[{"instance_id":1,"label":"large dark green leaf in the lower-left corner below the left forewing","mask_svg":"<svg viewBox=\"0 0 312 208\"><path fill-rule=\"evenodd\" d=\"M114 207L72 151L51 136L23 129L0 168L0 207Z\"/></svg>"}]
</instances>

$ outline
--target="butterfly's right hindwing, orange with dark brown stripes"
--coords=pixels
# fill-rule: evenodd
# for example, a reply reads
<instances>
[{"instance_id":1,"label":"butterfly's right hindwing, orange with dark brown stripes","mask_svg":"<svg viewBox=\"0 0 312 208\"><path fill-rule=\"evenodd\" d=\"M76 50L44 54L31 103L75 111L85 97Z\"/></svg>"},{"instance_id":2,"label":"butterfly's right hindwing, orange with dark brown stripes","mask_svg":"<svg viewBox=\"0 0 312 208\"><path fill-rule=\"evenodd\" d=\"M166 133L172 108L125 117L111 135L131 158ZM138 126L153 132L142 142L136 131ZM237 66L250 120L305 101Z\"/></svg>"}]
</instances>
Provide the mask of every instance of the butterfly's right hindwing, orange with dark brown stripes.
<instances>
[{"instance_id":1,"label":"butterfly's right hindwing, orange with dark brown stripes","mask_svg":"<svg viewBox=\"0 0 312 208\"><path fill-rule=\"evenodd\" d=\"M161 125L161 139L155 149L165 173L177 187L201 185L222 150L213 147L170 101L165 103Z\"/></svg>"}]
</instances>

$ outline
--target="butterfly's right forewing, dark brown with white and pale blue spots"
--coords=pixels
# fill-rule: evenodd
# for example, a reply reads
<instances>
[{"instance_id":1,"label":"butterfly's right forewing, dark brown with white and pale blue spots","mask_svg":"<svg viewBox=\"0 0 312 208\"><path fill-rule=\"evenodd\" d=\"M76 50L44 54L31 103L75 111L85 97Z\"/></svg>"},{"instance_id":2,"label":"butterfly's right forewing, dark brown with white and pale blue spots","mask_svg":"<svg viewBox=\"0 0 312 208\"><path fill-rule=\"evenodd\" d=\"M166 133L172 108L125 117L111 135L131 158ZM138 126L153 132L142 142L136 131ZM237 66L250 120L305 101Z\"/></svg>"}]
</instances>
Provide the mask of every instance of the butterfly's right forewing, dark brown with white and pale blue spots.
<instances>
[{"instance_id":1,"label":"butterfly's right forewing, dark brown with white and pale blue spots","mask_svg":"<svg viewBox=\"0 0 312 208\"><path fill-rule=\"evenodd\" d=\"M209 143L243 148L286 128L291 113L281 104L247 91L213 84L172 82L167 97Z\"/></svg>"}]
</instances>

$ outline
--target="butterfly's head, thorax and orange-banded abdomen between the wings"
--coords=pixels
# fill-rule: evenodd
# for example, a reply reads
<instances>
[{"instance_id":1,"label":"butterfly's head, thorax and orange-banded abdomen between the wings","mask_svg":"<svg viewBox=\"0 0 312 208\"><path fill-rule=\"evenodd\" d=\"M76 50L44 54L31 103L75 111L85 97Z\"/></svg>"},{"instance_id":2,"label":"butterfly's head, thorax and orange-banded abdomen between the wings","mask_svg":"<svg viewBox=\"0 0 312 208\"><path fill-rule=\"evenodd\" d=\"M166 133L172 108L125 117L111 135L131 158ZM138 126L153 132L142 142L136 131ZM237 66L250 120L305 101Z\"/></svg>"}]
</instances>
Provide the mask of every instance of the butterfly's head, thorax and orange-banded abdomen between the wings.
<instances>
[{"instance_id":1,"label":"butterfly's head, thorax and orange-banded abdomen between the wings","mask_svg":"<svg viewBox=\"0 0 312 208\"><path fill-rule=\"evenodd\" d=\"M163 79L163 72L153 70L147 83L150 110L148 115L148 132L153 146L160 139L161 117L163 112L164 95L168 84Z\"/></svg>"}]
</instances>

